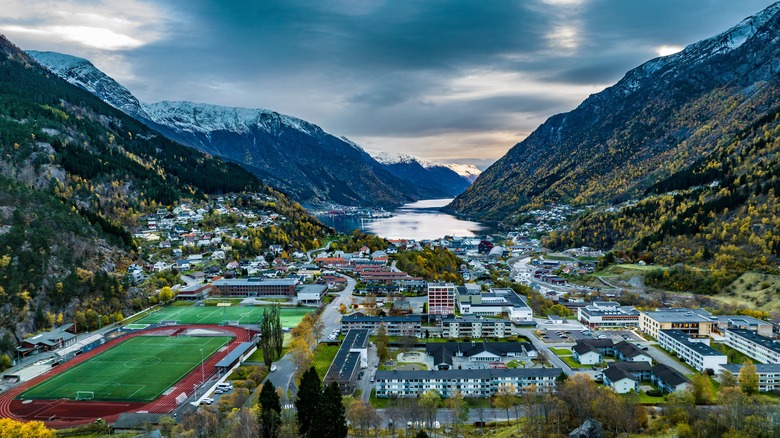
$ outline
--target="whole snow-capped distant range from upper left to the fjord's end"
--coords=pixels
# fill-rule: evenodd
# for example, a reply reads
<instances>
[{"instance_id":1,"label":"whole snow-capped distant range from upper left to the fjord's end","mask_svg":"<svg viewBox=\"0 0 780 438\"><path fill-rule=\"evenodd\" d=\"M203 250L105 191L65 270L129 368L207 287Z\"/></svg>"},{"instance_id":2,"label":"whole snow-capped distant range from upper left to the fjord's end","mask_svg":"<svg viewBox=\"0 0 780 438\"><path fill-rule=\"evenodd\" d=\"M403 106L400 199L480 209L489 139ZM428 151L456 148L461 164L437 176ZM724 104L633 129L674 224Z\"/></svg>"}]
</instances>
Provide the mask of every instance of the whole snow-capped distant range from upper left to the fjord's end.
<instances>
[{"instance_id":1,"label":"whole snow-capped distant range from upper left to the fjord's end","mask_svg":"<svg viewBox=\"0 0 780 438\"><path fill-rule=\"evenodd\" d=\"M453 197L478 173L476 168L463 172L445 165L380 163L346 138L274 111L192 102L143 104L86 59L28 53L61 78L168 138L241 164L301 203L392 207Z\"/></svg>"}]
</instances>

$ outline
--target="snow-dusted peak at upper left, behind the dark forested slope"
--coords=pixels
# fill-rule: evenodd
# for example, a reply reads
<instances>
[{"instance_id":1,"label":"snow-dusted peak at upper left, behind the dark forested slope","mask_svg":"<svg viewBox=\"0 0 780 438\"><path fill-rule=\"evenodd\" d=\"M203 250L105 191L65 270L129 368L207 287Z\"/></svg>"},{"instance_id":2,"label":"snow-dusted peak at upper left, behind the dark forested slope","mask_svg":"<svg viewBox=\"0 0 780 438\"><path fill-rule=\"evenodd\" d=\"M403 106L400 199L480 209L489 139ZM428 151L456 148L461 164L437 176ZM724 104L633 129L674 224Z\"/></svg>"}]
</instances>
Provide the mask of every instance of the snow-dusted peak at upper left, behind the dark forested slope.
<instances>
[{"instance_id":1,"label":"snow-dusted peak at upper left, behind the dark forested slope","mask_svg":"<svg viewBox=\"0 0 780 438\"><path fill-rule=\"evenodd\" d=\"M28 50L27 54L52 73L89 91L103 102L136 118L148 116L130 91L84 58L57 52Z\"/></svg>"}]
</instances>

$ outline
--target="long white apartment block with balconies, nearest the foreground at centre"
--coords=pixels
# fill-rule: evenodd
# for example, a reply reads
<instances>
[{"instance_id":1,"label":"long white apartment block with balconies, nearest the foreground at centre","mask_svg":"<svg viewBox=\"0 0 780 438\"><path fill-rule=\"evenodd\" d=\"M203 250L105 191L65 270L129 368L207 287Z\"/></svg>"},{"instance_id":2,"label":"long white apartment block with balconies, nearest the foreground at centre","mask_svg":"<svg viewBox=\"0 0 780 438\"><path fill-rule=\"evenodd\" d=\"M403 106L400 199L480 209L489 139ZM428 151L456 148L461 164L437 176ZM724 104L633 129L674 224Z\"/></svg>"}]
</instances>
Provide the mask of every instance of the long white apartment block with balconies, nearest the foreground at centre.
<instances>
[{"instance_id":1,"label":"long white apartment block with balconies, nearest the foreground at centre","mask_svg":"<svg viewBox=\"0 0 780 438\"><path fill-rule=\"evenodd\" d=\"M513 393L522 393L531 386L538 392L555 391L561 372L560 368L377 371L374 388L379 398L419 397L428 391L444 398L457 393L487 398L503 388Z\"/></svg>"}]
</instances>

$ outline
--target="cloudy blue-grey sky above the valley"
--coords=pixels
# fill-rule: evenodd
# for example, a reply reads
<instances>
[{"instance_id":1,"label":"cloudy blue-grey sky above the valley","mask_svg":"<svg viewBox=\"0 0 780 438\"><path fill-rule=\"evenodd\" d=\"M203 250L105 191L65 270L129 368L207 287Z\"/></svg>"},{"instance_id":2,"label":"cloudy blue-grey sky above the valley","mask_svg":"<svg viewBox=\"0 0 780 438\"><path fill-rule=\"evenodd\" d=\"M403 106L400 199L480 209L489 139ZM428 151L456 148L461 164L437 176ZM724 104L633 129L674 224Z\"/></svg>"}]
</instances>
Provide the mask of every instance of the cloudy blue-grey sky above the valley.
<instances>
[{"instance_id":1,"label":"cloudy blue-grey sky above the valley","mask_svg":"<svg viewBox=\"0 0 780 438\"><path fill-rule=\"evenodd\" d=\"M3 0L23 49L90 59L144 102L266 108L484 168L547 117L768 0Z\"/></svg>"}]
</instances>

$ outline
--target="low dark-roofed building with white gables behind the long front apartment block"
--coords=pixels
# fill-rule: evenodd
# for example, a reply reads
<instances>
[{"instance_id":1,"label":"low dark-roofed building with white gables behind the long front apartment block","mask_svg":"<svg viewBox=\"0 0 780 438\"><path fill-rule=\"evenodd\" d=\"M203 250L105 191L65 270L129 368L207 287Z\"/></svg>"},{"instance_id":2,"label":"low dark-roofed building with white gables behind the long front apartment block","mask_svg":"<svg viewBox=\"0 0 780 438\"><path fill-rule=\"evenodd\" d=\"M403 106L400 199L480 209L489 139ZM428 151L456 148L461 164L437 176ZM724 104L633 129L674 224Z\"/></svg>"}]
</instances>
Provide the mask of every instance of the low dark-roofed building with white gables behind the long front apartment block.
<instances>
[{"instance_id":1,"label":"low dark-roofed building with white gables behind the long front apartment block","mask_svg":"<svg viewBox=\"0 0 780 438\"><path fill-rule=\"evenodd\" d=\"M432 342L426 353L439 370L457 368L456 362L505 363L511 360L531 360L538 356L529 342Z\"/></svg>"}]
</instances>

